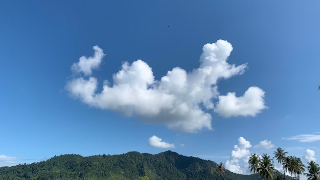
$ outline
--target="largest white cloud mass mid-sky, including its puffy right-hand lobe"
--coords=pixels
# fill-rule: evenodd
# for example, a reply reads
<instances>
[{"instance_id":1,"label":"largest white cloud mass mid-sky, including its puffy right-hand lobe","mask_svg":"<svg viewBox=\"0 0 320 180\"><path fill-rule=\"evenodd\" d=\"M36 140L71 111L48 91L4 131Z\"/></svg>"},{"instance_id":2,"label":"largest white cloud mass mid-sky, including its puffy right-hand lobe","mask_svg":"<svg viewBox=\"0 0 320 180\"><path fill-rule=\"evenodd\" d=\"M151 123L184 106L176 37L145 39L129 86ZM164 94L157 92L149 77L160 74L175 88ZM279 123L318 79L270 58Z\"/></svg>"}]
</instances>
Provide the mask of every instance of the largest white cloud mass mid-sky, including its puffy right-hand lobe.
<instances>
[{"instance_id":1,"label":"largest white cloud mass mid-sky, including its puffy right-hand lobe","mask_svg":"<svg viewBox=\"0 0 320 180\"><path fill-rule=\"evenodd\" d=\"M182 132L212 129L212 112L223 117L256 116L267 108L265 92L256 86L249 87L241 97L236 93L219 96L218 80L240 75L247 68L246 63L227 63L233 47L225 40L203 46L199 68L186 72L176 67L160 80L155 80L152 68L143 60L124 62L122 69L113 74L113 84L105 80L101 92L97 92L93 70L99 68L105 54L98 46L93 49L92 57L82 56L73 63L73 79L65 85L72 96L89 106Z\"/></svg>"}]
</instances>

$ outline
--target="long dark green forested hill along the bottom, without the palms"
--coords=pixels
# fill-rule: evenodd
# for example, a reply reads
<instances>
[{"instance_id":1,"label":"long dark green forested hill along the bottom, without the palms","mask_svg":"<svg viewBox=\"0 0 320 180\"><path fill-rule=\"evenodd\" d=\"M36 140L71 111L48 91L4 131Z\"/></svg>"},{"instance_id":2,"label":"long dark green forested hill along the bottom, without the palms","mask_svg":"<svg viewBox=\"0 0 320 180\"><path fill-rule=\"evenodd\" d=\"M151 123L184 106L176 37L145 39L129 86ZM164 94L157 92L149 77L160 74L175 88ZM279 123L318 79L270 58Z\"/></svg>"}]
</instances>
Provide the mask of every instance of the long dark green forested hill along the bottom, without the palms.
<instances>
[{"instance_id":1,"label":"long dark green forested hill along the bottom, without the palms","mask_svg":"<svg viewBox=\"0 0 320 180\"><path fill-rule=\"evenodd\" d=\"M32 164L0 168L0 179L220 179L216 163L166 151L159 154L128 152L121 155L76 154L54 156ZM255 175L240 175L228 170L225 179L255 180ZM221 178L222 179L222 178Z\"/></svg>"}]
</instances>

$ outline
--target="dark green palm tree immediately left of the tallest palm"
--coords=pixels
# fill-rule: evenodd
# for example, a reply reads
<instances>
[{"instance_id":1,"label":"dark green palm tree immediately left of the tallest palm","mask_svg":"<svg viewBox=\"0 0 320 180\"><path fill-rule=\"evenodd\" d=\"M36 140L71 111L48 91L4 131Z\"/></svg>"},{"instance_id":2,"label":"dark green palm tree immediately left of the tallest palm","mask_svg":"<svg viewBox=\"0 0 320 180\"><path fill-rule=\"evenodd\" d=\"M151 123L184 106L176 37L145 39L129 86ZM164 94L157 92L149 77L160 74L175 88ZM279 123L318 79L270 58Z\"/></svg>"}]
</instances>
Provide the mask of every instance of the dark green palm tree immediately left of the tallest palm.
<instances>
[{"instance_id":1,"label":"dark green palm tree immediately left of the tallest palm","mask_svg":"<svg viewBox=\"0 0 320 180\"><path fill-rule=\"evenodd\" d=\"M273 178L274 171L276 171L276 169L275 169L275 166L273 165L273 160L270 159L269 155L263 154L260 167L258 168L258 172L260 172L262 178L269 180Z\"/></svg>"}]
</instances>

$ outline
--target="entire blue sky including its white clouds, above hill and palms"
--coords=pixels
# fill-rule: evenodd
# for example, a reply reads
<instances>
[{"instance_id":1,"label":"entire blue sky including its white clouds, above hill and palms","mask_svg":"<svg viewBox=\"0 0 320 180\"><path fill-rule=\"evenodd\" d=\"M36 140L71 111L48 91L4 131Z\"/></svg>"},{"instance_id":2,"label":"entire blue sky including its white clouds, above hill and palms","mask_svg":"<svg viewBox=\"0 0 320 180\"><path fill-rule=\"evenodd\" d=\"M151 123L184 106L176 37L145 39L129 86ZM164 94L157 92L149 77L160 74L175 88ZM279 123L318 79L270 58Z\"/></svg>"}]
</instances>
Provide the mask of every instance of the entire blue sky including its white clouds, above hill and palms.
<instances>
[{"instance_id":1,"label":"entire blue sky including its white clouds, above hill and palms","mask_svg":"<svg viewBox=\"0 0 320 180\"><path fill-rule=\"evenodd\" d=\"M0 165L172 150L248 173L248 154L276 147L320 160L319 5L1 2Z\"/></svg>"}]
</instances>

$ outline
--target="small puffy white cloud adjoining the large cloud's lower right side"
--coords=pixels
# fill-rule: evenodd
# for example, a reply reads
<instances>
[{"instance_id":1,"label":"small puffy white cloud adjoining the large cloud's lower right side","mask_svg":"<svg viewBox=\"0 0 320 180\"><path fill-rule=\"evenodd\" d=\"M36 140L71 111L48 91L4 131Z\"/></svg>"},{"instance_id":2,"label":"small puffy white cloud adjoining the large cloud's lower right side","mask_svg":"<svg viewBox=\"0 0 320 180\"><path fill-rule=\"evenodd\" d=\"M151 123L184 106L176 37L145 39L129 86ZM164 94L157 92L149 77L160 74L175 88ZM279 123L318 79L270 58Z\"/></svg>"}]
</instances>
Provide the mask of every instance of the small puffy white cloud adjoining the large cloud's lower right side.
<instances>
[{"instance_id":1,"label":"small puffy white cloud adjoining the large cloud's lower right side","mask_svg":"<svg viewBox=\"0 0 320 180\"><path fill-rule=\"evenodd\" d=\"M236 97L236 93L228 93L226 96L219 96L219 102L214 110L223 117L232 116L256 116L264 105L264 94L261 88L249 87L242 97Z\"/></svg>"}]
</instances>

